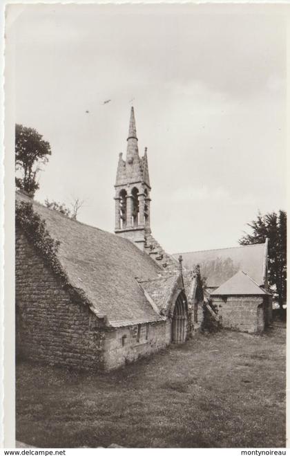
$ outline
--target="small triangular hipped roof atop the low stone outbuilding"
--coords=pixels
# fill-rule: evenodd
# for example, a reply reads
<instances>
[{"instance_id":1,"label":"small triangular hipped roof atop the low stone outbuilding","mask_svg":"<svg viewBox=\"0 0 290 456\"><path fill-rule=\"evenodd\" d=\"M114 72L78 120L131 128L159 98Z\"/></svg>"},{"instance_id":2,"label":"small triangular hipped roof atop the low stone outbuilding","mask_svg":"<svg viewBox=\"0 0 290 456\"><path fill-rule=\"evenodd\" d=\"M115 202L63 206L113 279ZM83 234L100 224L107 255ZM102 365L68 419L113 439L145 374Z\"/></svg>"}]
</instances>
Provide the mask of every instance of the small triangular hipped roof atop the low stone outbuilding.
<instances>
[{"instance_id":1,"label":"small triangular hipped roof atop the low stone outbuilding","mask_svg":"<svg viewBox=\"0 0 290 456\"><path fill-rule=\"evenodd\" d=\"M267 295L254 280L244 271L238 271L233 277L224 282L218 289L211 293L215 295Z\"/></svg>"}]
</instances>

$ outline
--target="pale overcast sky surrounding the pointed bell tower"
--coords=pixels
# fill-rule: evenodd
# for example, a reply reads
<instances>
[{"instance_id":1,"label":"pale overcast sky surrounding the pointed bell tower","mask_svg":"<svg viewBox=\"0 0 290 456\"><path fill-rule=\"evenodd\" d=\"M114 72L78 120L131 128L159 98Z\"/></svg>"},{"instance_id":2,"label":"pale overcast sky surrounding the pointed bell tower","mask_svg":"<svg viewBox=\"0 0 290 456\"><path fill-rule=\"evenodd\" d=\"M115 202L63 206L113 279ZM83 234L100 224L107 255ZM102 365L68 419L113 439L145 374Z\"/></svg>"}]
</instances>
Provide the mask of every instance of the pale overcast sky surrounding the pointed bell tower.
<instances>
[{"instance_id":1,"label":"pale overcast sky surrounding the pointed bell tower","mask_svg":"<svg viewBox=\"0 0 290 456\"><path fill-rule=\"evenodd\" d=\"M236 246L258 210L285 209L283 8L8 6L15 120L52 149L35 199L84 199L79 221L113 232L133 104L168 253Z\"/></svg>"}]
</instances>

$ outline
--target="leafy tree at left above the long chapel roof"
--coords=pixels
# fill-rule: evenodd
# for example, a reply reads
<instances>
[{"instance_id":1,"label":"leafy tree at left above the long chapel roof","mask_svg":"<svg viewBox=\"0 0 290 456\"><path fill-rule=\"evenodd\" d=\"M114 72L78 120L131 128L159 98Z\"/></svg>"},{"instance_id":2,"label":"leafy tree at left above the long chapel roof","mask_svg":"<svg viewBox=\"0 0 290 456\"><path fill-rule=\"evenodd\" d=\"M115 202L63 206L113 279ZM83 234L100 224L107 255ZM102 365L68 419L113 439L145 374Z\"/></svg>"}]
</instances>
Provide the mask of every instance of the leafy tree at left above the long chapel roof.
<instances>
[{"instance_id":1,"label":"leafy tree at left above the long chapel roof","mask_svg":"<svg viewBox=\"0 0 290 456\"><path fill-rule=\"evenodd\" d=\"M48 162L48 155L51 155L50 143L43 140L36 129L15 125L15 165L16 170L21 172L21 177L15 178L17 188L32 197L35 195L39 189L39 165Z\"/></svg>"}]
</instances>

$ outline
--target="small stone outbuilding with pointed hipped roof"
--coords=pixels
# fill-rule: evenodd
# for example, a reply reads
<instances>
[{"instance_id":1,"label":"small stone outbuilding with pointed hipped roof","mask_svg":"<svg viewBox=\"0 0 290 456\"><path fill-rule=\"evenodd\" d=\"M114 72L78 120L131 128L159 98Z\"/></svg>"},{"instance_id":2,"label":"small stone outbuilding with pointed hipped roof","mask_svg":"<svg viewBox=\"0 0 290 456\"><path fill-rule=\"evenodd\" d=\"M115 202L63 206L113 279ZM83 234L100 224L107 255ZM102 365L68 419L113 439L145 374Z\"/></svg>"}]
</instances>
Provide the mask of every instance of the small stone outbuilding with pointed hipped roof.
<instances>
[{"instance_id":1,"label":"small stone outbuilding with pointed hipped roof","mask_svg":"<svg viewBox=\"0 0 290 456\"><path fill-rule=\"evenodd\" d=\"M224 328L262 332L271 319L271 294L244 271L211 293L211 306Z\"/></svg>"}]
</instances>

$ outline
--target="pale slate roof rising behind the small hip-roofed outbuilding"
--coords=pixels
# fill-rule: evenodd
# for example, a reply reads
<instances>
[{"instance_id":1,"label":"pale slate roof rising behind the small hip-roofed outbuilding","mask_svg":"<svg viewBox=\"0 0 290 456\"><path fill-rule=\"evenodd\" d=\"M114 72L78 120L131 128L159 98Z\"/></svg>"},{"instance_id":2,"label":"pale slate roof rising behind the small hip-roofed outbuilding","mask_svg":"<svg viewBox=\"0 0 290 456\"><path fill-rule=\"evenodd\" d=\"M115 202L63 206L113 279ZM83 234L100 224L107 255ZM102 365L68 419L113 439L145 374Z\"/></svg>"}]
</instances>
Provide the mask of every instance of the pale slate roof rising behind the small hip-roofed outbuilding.
<instances>
[{"instance_id":1,"label":"pale slate roof rising behind the small hip-roofed outbuilding","mask_svg":"<svg viewBox=\"0 0 290 456\"><path fill-rule=\"evenodd\" d=\"M200 273L206 277L206 285L210 288L220 286L241 270L259 286L264 284L266 244L175 253L173 257L178 258L179 255L182 255L187 269L200 265Z\"/></svg>"}]
</instances>

